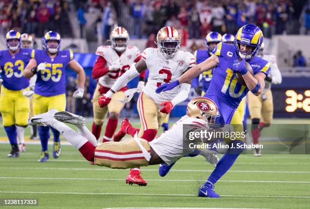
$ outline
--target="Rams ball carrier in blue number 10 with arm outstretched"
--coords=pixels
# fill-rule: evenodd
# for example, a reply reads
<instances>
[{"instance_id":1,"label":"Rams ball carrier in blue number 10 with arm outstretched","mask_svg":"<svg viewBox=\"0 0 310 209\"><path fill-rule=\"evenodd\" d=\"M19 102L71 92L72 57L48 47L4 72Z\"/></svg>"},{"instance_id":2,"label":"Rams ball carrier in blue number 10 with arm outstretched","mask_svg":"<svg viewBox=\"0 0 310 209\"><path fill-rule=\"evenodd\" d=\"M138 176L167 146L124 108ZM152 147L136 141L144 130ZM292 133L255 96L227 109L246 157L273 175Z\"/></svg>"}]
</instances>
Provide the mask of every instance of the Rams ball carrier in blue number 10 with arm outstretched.
<instances>
[{"instance_id":1,"label":"Rams ball carrier in blue number 10 with arm outstretched","mask_svg":"<svg viewBox=\"0 0 310 209\"><path fill-rule=\"evenodd\" d=\"M156 92L169 91L180 83L215 68L210 87L204 97L212 99L218 106L221 116L217 118L217 122L229 124L239 103L248 91L258 96L264 89L264 79L270 71L270 64L255 56L262 41L263 34L259 27L252 24L244 25L238 30L234 45L219 43L210 58L189 69L178 80L158 87ZM251 65L254 76L248 71L245 61ZM235 72L241 73L246 86L238 81ZM238 115L235 114L234 123L239 124L239 129L235 132L242 127L242 118ZM239 154L243 152L243 140L225 140L229 144L229 148L217 163L206 183L199 188L199 196L220 197L213 191L214 184L230 169Z\"/></svg>"}]
</instances>

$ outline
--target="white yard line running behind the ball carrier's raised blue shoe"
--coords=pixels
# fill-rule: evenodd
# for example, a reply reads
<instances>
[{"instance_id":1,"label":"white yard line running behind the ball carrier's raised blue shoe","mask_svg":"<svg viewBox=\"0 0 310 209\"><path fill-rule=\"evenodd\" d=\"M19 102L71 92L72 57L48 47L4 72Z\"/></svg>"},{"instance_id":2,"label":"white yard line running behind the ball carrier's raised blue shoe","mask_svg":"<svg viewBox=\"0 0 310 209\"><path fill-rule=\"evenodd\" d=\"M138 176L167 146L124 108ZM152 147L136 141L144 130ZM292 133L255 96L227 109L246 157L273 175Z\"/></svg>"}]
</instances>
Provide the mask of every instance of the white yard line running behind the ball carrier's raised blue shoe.
<instances>
[{"instance_id":1,"label":"white yard line running behind the ball carrier's raised blue shoe","mask_svg":"<svg viewBox=\"0 0 310 209\"><path fill-rule=\"evenodd\" d=\"M128 172L128 170L123 170L123 169L87 169L87 168L40 168L40 167L36 167L36 168L28 168L28 167L0 167L1 169L18 169L18 170L22 170L22 169L27 169L27 170L64 170L64 171L71 171L71 170L75 170L75 171L126 171ZM143 169L143 172L158 172L158 169ZM177 169L173 169L170 172L213 172L213 170L177 170ZM248 171L248 170L231 170L228 171L231 173L283 173L283 174L310 174L310 171Z\"/></svg>"}]
</instances>

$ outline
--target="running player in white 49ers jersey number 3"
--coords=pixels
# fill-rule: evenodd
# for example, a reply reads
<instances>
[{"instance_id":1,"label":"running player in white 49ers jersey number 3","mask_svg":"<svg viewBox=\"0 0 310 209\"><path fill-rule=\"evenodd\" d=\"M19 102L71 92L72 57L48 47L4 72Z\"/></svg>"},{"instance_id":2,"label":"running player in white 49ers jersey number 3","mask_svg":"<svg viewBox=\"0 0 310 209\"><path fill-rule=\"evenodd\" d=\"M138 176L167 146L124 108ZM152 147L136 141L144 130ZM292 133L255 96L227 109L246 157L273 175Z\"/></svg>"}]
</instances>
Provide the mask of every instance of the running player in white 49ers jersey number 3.
<instances>
[{"instance_id":1,"label":"running player in white 49ers jersey number 3","mask_svg":"<svg viewBox=\"0 0 310 209\"><path fill-rule=\"evenodd\" d=\"M111 89L99 98L99 105L105 107L111 101L115 92L119 91L129 80L133 79L145 69L149 70L146 86L138 99L138 112L141 128L131 126L127 118L123 119L121 129L115 133L114 141L120 141L126 134L132 137L138 133L138 137L152 141L165 117L172 108L187 99L190 84L183 83L175 90L156 94L155 90L162 83L178 79L187 69L195 65L195 57L189 53L179 50L180 35L173 27L163 27L157 34L158 48L147 48L141 54L141 60L132 64L130 69L124 73L111 87ZM129 183L145 184L140 177L138 169L131 170L127 177Z\"/></svg>"}]
</instances>

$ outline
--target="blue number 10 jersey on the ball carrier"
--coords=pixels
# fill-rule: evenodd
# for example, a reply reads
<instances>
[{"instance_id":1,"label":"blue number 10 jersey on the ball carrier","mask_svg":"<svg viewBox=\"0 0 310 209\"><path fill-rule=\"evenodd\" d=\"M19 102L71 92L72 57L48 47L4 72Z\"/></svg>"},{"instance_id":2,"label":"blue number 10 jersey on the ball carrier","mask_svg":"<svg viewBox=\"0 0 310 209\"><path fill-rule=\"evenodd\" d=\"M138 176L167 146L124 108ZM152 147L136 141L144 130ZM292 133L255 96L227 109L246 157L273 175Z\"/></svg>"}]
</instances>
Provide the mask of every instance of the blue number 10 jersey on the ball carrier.
<instances>
[{"instance_id":1,"label":"blue number 10 jersey on the ball carrier","mask_svg":"<svg viewBox=\"0 0 310 209\"><path fill-rule=\"evenodd\" d=\"M213 50L213 54L218 56L219 64L214 68L208 92L216 93L224 103L237 108L249 89L237 80L234 72L231 70L232 64L239 58L235 47L219 43ZM259 72L268 75L270 63L266 60L255 56L247 62L251 65L254 75Z\"/></svg>"}]
</instances>

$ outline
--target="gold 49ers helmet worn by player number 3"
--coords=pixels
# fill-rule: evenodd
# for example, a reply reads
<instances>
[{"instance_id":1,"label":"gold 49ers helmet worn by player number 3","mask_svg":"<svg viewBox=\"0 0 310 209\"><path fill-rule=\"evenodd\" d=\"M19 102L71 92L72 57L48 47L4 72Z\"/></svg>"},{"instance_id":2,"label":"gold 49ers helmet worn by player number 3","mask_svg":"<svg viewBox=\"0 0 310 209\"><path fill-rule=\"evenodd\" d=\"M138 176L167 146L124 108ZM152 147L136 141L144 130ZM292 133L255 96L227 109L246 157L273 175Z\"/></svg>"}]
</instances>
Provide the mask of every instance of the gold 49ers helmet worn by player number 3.
<instances>
[{"instance_id":1,"label":"gold 49ers helmet worn by player number 3","mask_svg":"<svg viewBox=\"0 0 310 209\"><path fill-rule=\"evenodd\" d=\"M157 33L157 47L166 59L173 58L179 51L181 36L174 27L163 27Z\"/></svg>"}]
</instances>

